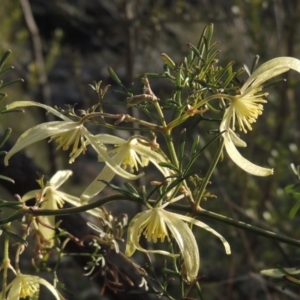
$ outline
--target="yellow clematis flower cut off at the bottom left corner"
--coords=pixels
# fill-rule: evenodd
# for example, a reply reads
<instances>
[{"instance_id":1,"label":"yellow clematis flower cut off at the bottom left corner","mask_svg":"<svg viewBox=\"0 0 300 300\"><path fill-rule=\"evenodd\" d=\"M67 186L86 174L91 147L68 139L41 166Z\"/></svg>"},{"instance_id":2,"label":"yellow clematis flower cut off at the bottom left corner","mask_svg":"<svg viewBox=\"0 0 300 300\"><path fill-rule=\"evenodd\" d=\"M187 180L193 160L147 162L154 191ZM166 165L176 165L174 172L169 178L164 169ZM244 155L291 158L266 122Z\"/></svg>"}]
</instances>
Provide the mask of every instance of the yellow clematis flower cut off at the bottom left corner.
<instances>
[{"instance_id":1,"label":"yellow clematis flower cut off at the bottom left corner","mask_svg":"<svg viewBox=\"0 0 300 300\"><path fill-rule=\"evenodd\" d=\"M18 300L30 297L30 299L38 299L40 285L45 286L55 297L55 299L63 299L57 290L47 280L33 275L17 273L15 279L5 288L5 294L8 292L6 300ZM2 295L2 292L1 292ZM2 299L2 298L1 298Z\"/></svg>"}]
</instances>

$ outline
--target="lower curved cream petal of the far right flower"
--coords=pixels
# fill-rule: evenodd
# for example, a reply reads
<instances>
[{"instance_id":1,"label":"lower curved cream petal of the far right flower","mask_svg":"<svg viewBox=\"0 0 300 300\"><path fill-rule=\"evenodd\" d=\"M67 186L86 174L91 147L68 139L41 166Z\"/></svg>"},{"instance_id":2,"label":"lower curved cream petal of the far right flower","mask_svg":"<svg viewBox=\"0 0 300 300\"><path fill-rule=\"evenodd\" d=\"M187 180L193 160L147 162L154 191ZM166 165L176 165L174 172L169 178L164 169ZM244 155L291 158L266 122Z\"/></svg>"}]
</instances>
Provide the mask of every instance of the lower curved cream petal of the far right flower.
<instances>
[{"instance_id":1,"label":"lower curved cream petal of the far right flower","mask_svg":"<svg viewBox=\"0 0 300 300\"><path fill-rule=\"evenodd\" d=\"M236 149L233 141L231 140L230 134L228 132L225 132L223 134L223 138L224 138L225 148L229 157L241 169L256 176L269 176L273 174L273 169L262 168L258 165L253 164L246 158L244 158Z\"/></svg>"}]
</instances>

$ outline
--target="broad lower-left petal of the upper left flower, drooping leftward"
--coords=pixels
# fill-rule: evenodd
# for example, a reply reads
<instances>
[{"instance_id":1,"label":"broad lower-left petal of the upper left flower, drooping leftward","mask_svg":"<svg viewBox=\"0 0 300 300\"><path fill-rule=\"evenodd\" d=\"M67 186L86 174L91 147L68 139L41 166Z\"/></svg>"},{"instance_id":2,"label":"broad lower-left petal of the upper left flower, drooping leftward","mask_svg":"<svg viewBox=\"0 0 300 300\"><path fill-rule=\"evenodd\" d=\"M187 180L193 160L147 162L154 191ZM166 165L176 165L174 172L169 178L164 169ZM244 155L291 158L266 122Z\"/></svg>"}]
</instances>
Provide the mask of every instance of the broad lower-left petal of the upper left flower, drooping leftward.
<instances>
[{"instance_id":1,"label":"broad lower-left petal of the upper left flower, drooping leftward","mask_svg":"<svg viewBox=\"0 0 300 300\"><path fill-rule=\"evenodd\" d=\"M52 135L74 130L79 125L76 122L66 122L66 121L54 121L39 124L35 127L32 127L25 131L16 141L14 146L10 149L10 151L4 157L4 164L8 166L9 159L18 151L23 148L41 141L45 138L48 138Z\"/></svg>"}]
</instances>

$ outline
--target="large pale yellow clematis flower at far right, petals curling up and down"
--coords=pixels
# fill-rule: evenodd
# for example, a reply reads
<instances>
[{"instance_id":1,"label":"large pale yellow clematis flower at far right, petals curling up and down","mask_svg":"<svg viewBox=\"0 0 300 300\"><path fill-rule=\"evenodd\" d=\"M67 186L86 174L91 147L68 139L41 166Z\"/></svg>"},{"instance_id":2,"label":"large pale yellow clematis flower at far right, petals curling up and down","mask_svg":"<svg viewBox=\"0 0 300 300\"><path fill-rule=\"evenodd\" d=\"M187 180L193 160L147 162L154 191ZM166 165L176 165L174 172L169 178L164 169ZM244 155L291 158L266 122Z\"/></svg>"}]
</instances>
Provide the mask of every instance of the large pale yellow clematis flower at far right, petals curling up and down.
<instances>
[{"instance_id":1,"label":"large pale yellow clematis flower at far right, petals curling up and down","mask_svg":"<svg viewBox=\"0 0 300 300\"><path fill-rule=\"evenodd\" d=\"M246 147L246 143L235 134L235 126L237 125L238 129L244 133L252 130L251 124L256 122L258 116L262 114L263 104L267 102L264 99L267 93L261 92L262 84L290 69L300 73L300 60L292 57L274 58L253 72L240 89L239 95L228 97L226 95L226 99L231 103L220 125L220 131L224 131L222 136L225 149L233 162L250 174L268 176L273 174L273 169L257 166L241 156L235 146Z\"/></svg>"}]
</instances>

